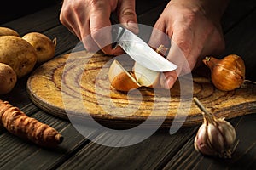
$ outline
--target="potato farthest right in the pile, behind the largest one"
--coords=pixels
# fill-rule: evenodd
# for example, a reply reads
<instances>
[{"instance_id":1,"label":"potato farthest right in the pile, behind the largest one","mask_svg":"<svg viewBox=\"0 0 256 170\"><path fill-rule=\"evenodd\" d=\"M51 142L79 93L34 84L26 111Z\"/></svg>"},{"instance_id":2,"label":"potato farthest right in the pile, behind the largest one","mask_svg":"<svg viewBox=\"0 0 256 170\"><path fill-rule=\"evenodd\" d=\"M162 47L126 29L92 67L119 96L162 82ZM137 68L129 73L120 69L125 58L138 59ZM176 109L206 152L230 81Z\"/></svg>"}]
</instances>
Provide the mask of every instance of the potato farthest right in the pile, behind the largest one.
<instances>
[{"instance_id":1,"label":"potato farthest right in the pile, behind the largest one","mask_svg":"<svg viewBox=\"0 0 256 170\"><path fill-rule=\"evenodd\" d=\"M55 55L55 39L52 41L49 37L39 32L29 32L22 37L27 42L30 42L36 49L38 54L38 64L41 64Z\"/></svg>"}]
</instances>

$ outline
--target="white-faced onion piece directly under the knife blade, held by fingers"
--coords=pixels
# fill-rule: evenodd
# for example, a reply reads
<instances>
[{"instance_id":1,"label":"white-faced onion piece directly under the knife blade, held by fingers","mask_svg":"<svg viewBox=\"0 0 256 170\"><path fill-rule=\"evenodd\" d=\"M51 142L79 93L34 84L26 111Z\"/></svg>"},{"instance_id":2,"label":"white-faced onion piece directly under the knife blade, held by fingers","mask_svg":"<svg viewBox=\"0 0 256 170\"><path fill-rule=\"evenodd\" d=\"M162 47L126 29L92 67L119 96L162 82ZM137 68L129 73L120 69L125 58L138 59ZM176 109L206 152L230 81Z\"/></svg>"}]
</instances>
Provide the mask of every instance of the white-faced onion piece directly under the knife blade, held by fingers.
<instances>
[{"instance_id":1,"label":"white-faced onion piece directly under the knife blade, held by fingers","mask_svg":"<svg viewBox=\"0 0 256 170\"><path fill-rule=\"evenodd\" d=\"M134 77L137 82L144 87L157 88L160 87L160 72L152 71L143 65L135 62L133 66Z\"/></svg>"}]
</instances>

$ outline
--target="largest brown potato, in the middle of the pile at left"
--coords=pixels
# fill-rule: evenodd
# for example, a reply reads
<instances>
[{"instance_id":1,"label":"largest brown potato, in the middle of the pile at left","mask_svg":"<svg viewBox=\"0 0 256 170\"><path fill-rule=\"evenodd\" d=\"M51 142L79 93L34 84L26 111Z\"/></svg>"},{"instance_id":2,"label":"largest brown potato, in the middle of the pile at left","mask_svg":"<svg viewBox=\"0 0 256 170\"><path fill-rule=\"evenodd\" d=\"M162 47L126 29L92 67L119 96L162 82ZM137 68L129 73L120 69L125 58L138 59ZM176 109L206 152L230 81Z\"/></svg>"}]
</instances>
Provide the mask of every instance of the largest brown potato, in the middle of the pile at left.
<instances>
[{"instance_id":1,"label":"largest brown potato, in the middle of the pile at left","mask_svg":"<svg viewBox=\"0 0 256 170\"><path fill-rule=\"evenodd\" d=\"M21 37L0 37L0 62L11 66L18 78L32 71L37 58L35 48Z\"/></svg>"}]
</instances>

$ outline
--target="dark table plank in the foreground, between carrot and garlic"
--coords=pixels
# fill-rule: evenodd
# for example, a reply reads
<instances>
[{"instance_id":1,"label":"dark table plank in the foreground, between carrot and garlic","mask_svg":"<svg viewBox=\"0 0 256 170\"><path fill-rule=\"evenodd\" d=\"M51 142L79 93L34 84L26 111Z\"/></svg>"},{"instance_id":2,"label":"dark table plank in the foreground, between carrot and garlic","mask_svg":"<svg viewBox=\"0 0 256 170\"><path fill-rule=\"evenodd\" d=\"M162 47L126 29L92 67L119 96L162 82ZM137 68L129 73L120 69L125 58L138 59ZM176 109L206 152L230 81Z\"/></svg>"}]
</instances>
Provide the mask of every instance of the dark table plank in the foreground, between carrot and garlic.
<instances>
[{"instance_id":1,"label":"dark table plank in the foreground, between carrot and garlic","mask_svg":"<svg viewBox=\"0 0 256 170\"><path fill-rule=\"evenodd\" d=\"M166 157L172 157L172 154L181 149L183 142L191 138L192 133L194 133L193 129L183 129L175 135L170 135L167 131L159 131L139 144L118 148L90 143L59 168L157 169L161 162L166 161ZM140 133L130 135L127 133L125 137L132 140L136 139L137 135ZM100 134L97 140L104 142L108 139L108 135Z\"/></svg>"}]
</instances>

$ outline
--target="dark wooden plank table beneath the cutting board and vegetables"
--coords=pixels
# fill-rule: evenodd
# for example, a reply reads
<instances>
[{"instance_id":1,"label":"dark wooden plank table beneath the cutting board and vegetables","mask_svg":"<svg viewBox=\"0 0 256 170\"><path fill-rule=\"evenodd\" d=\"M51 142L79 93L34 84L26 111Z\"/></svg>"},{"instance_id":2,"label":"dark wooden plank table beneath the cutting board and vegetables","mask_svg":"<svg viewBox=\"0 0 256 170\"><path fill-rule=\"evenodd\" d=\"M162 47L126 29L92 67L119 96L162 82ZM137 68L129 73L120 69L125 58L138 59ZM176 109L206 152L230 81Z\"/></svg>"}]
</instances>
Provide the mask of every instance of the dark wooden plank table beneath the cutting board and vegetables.
<instances>
[{"instance_id":1,"label":"dark wooden plank table beneath the cutting board and vegetables","mask_svg":"<svg viewBox=\"0 0 256 170\"><path fill-rule=\"evenodd\" d=\"M153 26L168 1L137 1L138 21ZM57 37L55 56L70 53L79 42L59 21L61 5L49 6L36 13L2 23L20 33L39 31ZM149 17L148 17L149 16ZM255 81L256 3L254 0L230 2L223 19L226 54L244 56L247 78ZM181 128L177 133L159 130L148 139L126 147L108 147L91 142L108 140L92 129L84 138L68 121L49 115L32 103L26 92L26 80L19 80L10 94L1 96L20 107L28 116L55 127L64 141L55 149L40 148L0 130L0 169L255 169L256 114L230 119L236 127L239 144L231 159L202 156L195 151L194 139L199 126Z\"/></svg>"}]
</instances>

